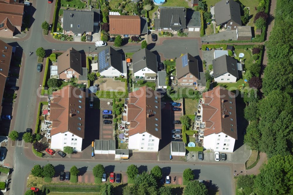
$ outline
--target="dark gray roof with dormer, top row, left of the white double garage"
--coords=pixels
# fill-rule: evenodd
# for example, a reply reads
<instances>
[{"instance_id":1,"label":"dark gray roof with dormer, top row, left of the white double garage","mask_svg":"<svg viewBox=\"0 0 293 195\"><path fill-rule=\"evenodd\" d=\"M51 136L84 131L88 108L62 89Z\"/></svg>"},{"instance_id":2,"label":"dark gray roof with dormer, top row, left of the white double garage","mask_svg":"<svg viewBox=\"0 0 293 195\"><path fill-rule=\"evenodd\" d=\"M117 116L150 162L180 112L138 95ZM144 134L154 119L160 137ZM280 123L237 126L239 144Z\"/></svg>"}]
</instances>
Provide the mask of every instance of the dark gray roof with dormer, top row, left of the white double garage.
<instances>
[{"instance_id":1,"label":"dark gray roof with dormer, top row, left of the white double garage","mask_svg":"<svg viewBox=\"0 0 293 195\"><path fill-rule=\"evenodd\" d=\"M160 28L171 28L172 30L186 28L185 7L159 7L159 10Z\"/></svg>"}]
</instances>

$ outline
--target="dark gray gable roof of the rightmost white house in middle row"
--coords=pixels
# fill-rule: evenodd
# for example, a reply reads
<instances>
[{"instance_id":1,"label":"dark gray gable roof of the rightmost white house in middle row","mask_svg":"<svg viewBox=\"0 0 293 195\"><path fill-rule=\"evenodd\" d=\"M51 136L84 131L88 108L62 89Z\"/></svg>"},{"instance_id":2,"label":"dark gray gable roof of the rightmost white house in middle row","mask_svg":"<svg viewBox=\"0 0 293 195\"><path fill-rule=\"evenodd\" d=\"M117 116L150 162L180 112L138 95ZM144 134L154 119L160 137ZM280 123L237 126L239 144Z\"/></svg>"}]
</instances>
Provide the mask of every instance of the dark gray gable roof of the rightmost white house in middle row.
<instances>
[{"instance_id":1,"label":"dark gray gable roof of the rightmost white house in middle row","mask_svg":"<svg viewBox=\"0 0 293 195\"><path fill-rule=\"evenodd\" d=\"M214 78L217 78L225 73L230 73L231 75L239 78L237 70L237 61L227 55L223 55L216 59L213 59L213 71Z\"/></svg>"}]
</instances>

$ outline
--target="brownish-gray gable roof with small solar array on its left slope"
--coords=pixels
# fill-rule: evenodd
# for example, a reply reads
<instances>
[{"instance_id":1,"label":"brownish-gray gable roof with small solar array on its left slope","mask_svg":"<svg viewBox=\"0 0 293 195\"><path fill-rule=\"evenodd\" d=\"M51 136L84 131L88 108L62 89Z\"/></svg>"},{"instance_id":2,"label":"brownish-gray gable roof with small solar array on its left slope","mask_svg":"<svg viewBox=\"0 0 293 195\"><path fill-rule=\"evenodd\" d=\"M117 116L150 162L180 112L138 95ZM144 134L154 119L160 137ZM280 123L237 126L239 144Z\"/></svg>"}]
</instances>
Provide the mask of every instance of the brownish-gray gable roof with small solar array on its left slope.
<instances>
[{"instance_id":1,"label":"brownish-gray gable roof with small solar array on its left slope","mask_svg":"<svg viewBox=\"0 0 293 195\"><path fill-rule=\"evenodd\" d=\"M182 59L186 58L187 55L187 65L183 67ZM177 79L183 77L186 74L192 74L196 78L199 78L198 72L198 62L195 57L191 56L189 53L184 54L180 58L176 59L176 76Z\"/></svg>"}]
</instances>

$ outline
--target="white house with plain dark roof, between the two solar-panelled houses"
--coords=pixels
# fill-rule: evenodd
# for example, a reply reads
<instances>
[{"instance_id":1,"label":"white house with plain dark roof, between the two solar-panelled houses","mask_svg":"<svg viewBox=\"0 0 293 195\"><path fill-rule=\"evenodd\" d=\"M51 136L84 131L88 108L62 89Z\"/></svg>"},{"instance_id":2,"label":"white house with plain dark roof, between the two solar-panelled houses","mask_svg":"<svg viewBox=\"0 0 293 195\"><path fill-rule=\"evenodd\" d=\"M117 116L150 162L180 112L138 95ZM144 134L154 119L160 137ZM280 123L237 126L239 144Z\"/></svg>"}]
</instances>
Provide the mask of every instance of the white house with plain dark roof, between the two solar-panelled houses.
<instances>
[{"instance_id":1,"label":"white house with plain dark roof, between the two solar-panelled houses","mask_svg":"<svg viewBox=\"0 0 293 195\"><path fill-rule=\"evenodd\" d=\"M132 55L132 66L134 77L145 77L155 80L158 73L157 56L150 50L144 48Z\"/></svg>"}]
</instances>

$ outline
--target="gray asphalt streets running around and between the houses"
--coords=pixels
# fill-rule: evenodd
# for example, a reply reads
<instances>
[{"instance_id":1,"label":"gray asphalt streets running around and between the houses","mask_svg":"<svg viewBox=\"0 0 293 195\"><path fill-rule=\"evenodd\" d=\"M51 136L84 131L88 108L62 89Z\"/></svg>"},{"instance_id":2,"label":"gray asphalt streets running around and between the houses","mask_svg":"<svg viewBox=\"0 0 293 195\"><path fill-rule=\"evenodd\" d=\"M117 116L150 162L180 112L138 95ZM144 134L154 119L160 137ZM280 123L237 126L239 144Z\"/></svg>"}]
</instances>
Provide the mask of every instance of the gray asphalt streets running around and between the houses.
<instances>
[{"instance_id":1,"label":"gray asphalt streets running around and between the houses","mask_svg":"<svg viewBox=\"0 0 293 195\"><path fill-rule=\"evenodd\" d=\"M37 96L37 90L39 88L40 82L40 73L36 72L37 65L37 56L35 55L35 50L38 47L43 47L45 49L52 50L67 50L69 47L74 47L76 50L84 50L85 53L88 52L89 45L82 45L70 42L60 42L50 43L47 42L42 36L41 24L44 20L49 21L49 17L51 14L51 9L54 9L54 4L48 4L47 1L36 1L36 11L33 15L34 23L30 28L31 34L29 39L26 41L19 41L17 39L2 39L7 43L11 43L12 46L18 46L17 52L23 53L23 62L21 71L23 71L23 79L20 81L21 85L21 93L18 98L21 99L21 102L18 104L17 114L13 116L16 120L14 130L18 132L25 131L26 128L35 129L32 125L35 120L35 107L38 106L36 102L38 102L39 97ZM28 35L29 36L29 35ZM21 49L22 48L22 49ZM138 46L123 46L124 52L136 52L140 49L140 45ZM100 52L104 48L91 48L91 52ZM154 46L150 45L149 49L151 51L157 51L158 53L162 53L165 58L175 58L179 57L181 53L186 53L187 51L190 54L196 56L198 55L197 41L196 40L174 40L174 41L164 41L163 45ZM34 52L34 54L29 57L29 52ZM44 64L44 63L43 63ZM9 155L9 153L8 153ZM40 165L45 165L49 163L50 159L42 159L42 161L33 161L27 159L23 154L22 147L15 147L14 153L14 169L12 181L10 184L10 194L23 194L26 190L25 187L25 177L30 172L31 168L35 165L35 163L39 163ZM69 170L72 165L76 165L78 168L87 167L87 170L92 170L93 166L95 166L98 162L73 162L73 161L50 161L53 165L63 164L66 170ZM158 162L143 164L142 166L147 166L145 168L151 169L153 166L157 165ZM103 163L104 166L112 167L116 172L118 171L126 171L129 163L119 163L113 161L111 163ZM138 167L141 164L136 164ZM167 167L164 170L167 172L171 171L172 173L182 173L185 168L190 167L193 170L197 170L197 177L200 179L210 179L214 184L216 184L222 194L229 195L232 194L231 191L231 170L228 166L214 166L214 165L177 165L177 164L159 164L162 168Z\"/></svg>"}]
</instances>

